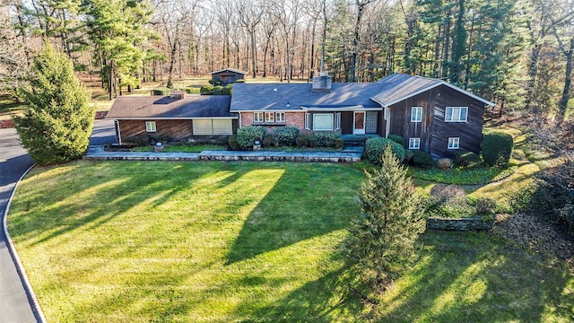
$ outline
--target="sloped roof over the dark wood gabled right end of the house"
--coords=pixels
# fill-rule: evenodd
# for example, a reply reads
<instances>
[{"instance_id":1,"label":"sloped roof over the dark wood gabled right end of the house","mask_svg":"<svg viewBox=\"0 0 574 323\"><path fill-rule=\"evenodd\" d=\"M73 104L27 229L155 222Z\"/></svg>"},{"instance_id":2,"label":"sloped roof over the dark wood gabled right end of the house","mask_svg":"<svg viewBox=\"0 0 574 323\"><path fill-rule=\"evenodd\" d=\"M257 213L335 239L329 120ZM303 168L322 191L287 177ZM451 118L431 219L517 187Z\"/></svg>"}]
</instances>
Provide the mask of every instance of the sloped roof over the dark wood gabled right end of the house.
<instances>
[{"instance_id":1,"label":"sloped roof over the dark wood gabled right end of the house","mask_svg":"<svg viewBox=\"0 0 574 323\"><path fill-rule=\"evenodd\" d=\"M396 102L406 100L422 92L429 91L439 85L448 86L451 89L474 98L475 100L482 101L485 105L494 105L494 103L491 101L484 100L483 98L476 96L471 92L466 92L465 90L455 85L446 83L439 79L412 76L409 74L392 74L378 81L377 83L379 84L378 94L373 97L373 100L376 100L378 103L386 107L393 105Z\"/></svg>"}]
</instances>

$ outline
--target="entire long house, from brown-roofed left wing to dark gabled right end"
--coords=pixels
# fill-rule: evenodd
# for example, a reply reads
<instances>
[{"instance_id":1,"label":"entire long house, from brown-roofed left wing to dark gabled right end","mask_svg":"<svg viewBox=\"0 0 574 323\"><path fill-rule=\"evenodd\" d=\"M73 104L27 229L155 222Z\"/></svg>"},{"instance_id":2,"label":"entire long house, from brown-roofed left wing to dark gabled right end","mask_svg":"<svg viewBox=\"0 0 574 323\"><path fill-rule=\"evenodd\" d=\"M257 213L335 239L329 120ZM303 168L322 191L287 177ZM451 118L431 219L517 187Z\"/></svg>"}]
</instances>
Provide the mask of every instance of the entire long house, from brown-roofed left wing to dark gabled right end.
<instances>
[{"instance_id":1,"label":"entire long house, from brown-roofed left wing to dark gabled right end","mask_svg":"<svg viewBox=\"0 0 574 323\"><path fill-rule=\"evenodd\" d=\"M492 106L437 79L392 74L376 83L236 83L231 97L120 97L107 118L117 140L158 135L181 140L234 134L238 127L293 126L302 134L402 135L405 147L449 156L480 153L483 112Z\"/></svg>"}]
</instances>

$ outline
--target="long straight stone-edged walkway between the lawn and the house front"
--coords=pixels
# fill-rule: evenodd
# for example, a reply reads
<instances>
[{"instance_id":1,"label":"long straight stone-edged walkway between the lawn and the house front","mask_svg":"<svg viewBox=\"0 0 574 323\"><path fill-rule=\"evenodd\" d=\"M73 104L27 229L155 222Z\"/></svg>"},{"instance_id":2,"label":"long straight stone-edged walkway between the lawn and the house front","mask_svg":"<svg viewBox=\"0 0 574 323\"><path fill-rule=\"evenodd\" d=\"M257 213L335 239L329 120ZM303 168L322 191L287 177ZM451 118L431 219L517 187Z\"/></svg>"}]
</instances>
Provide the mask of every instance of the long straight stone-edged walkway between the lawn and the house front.
<instances>
[{"instance_id":1,"label":"long straight stone-edged walkway between the lawn and the house front","mask_svg":"<svg viewBox=\"0 0 574 323\"><path fill-rule=\"evenodd\" d=\"M91 146L84 160L97 161L254 161L254 162L359 162L363 147L349 147L341 152L239 152L204 151L201 153L105 152Z\"/></svg>"}]
</instances>

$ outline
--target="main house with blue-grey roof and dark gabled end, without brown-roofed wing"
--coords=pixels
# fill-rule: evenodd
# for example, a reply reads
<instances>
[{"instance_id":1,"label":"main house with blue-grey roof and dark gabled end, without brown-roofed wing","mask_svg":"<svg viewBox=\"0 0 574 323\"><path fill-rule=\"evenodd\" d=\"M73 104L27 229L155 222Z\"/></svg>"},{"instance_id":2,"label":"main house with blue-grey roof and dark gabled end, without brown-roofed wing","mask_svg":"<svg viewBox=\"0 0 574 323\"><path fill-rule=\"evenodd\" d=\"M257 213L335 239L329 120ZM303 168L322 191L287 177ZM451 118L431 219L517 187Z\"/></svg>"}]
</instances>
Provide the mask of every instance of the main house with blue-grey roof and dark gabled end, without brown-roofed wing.
<instances>
[{"instance_id":1,"label":"main house with blue-grey roof and dark gabled end, without brown-roofed wing","mask_svg":"<svg viewBox=\"0 0 574 323\"><path fill-rule=\"evenodd\" d=\"M299 127L341 135L402 135L405 147L452 155L480 153L483 112L494 105L441 80L392 74L376 83L332 83L320 75L312 84L234 85L230 111L239 127Z\"/></svg>"}]
</instances>

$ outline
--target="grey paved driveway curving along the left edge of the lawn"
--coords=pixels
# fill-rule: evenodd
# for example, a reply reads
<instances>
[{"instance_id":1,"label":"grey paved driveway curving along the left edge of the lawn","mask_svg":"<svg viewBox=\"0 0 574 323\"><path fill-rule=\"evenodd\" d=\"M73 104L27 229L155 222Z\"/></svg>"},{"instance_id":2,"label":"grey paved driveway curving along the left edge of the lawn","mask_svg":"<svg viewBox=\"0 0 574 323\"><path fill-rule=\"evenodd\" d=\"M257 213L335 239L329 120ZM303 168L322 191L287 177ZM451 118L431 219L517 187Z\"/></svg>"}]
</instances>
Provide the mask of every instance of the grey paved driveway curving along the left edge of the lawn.
<instances>
[{"instance_id":1,"label":"grey paved driveway curving along the left edge of the lawn","mask_svg":"<svg viewBox=\"0 0 574 323\"><path fill-rule=\"evenodd\" d=\"M14 129L0 129L0 217L18 179L33 164ZM0 230L0 323L36 322L30 299L14 266L4 230Z\"/></svg>"}]
</instances>

